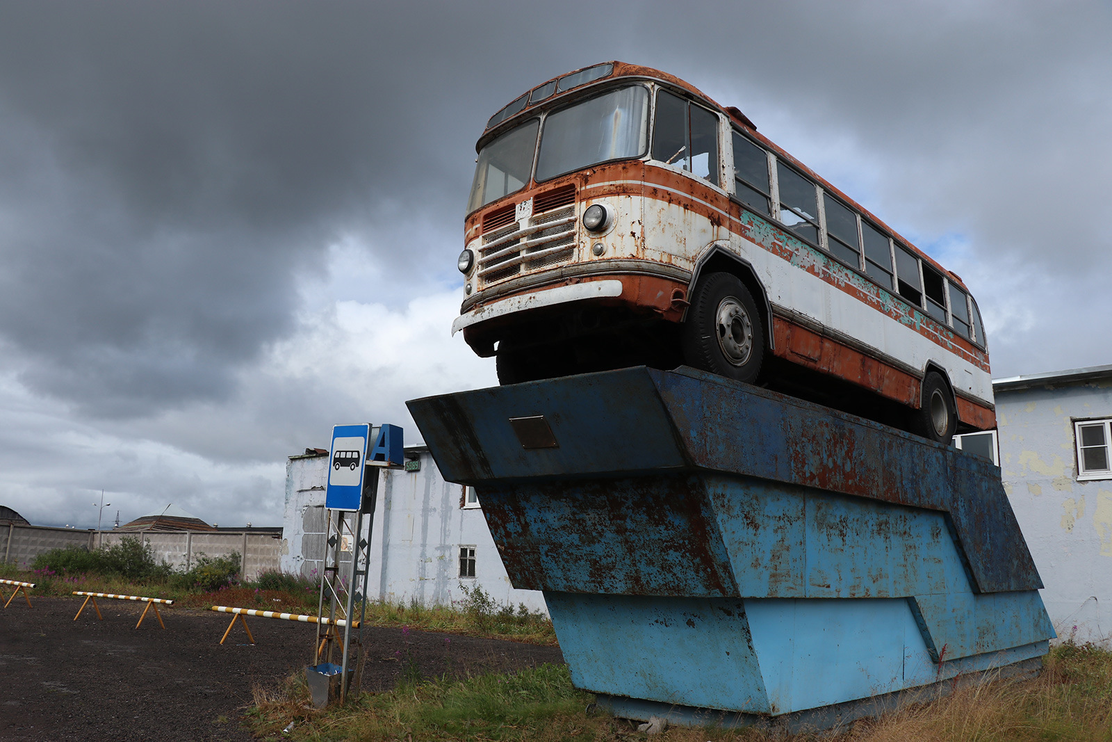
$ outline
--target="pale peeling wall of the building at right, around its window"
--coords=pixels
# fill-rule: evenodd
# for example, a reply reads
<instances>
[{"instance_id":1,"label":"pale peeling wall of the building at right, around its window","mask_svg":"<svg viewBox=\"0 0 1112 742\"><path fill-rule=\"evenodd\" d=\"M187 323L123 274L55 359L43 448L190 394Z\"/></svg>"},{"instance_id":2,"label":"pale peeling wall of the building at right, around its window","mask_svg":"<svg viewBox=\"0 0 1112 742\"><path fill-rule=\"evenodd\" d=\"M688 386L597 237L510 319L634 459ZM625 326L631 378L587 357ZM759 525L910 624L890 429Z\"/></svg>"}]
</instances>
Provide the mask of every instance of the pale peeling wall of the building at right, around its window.
<instances>
[{"instance_id":1,"label":"pale peeling wall of the building at right, around its window","mask_svg":"<svg viewBox=\"0 0 1112 742\"><path fill-rule=\"evenodd\" d=\"M1001 474L1059 637L1112 636L1112 481L1078 481L1075 418L1112 417L1112 379L996 392Z\"/></svg>"}]
</instances>

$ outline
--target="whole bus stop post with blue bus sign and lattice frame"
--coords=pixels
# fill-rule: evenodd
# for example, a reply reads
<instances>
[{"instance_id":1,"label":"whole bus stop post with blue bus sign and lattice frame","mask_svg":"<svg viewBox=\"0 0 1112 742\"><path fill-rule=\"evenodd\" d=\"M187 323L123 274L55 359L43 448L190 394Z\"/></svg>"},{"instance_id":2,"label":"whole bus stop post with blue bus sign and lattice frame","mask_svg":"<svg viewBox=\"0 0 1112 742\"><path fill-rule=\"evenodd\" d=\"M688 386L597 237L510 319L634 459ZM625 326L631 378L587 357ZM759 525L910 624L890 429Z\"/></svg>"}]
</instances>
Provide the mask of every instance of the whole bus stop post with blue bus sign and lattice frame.
<instances>
[{"instance_id":1,"label":"whole bus stop post with blue bus sign and lattice frame","mask_svg":"<svg viewBox=\"0 0 1112 742\"><path fill-rule=\"evenodd\" d=\"M360 615L356 623L357 656L363 653L363 619L367 605L367 575L370 568L370 531L378 496L378 468L400 467L405 464L403 432L396 425L371 426L337 425L332 428L332 445L328 458L328 486L325 492L327 508L327 540L325 542L324 573L320 580L318 615L325 616L328 601L328 622L317 624L314 643L315 660L331 662L337 623L342 622L344 636L340 647L340 703L347 700L348 657L351 640L351 614L359 596ZM364 515L367 516L366 524ZM366 530L367 535L364 536ZM350 563L341 564L341 562ZM339 614L339 615L337 615ZM324 657L321 657L324 655Z\"/></svg>"}]
</instances>

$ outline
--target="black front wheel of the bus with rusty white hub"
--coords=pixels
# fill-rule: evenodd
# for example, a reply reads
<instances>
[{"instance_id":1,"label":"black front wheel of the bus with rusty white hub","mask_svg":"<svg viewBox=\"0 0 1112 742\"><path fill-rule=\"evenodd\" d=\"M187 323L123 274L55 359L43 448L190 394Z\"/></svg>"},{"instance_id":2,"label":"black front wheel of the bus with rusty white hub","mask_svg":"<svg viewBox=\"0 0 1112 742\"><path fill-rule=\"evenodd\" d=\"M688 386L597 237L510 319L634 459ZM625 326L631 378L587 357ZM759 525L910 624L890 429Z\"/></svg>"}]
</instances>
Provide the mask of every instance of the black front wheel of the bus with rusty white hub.
<instances>
[{"instance_id":1,"label":"black front wheel of the bus with rusty white hub","mask_svg":"<svg viewBox=\"0 0 1112 742\"><path fill-rule=\"evenodd\" d=\"M713 273L698 283L682 347L689 366L738 382L756 379L764 360L764 327L756 303L736 276Z\"/></svg>"}]
</instances>

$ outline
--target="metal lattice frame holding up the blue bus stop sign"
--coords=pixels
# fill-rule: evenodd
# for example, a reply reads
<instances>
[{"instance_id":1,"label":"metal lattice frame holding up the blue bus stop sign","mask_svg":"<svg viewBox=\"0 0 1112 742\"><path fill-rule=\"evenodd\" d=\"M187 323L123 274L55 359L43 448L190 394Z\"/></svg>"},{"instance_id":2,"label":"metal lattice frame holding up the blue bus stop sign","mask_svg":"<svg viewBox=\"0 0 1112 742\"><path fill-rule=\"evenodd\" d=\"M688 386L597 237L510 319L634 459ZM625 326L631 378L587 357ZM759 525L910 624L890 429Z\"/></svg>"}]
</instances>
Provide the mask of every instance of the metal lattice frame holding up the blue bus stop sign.
<instances>
[{"instance_id":1,"label":"metal lattice frame holding up the blue bus stop sign","mask_svg":"<svg viewBox=\"0 0 1112 742\"><path fill-rule=\"evenodd\" d=\"M339 649L340 657L340 703L347 700L349 684L348 667L361 667L363 619L367 605L367 575L370 570L370 532L375 521L375 499L378 496L379 466L367 466L364 473L363 503L358 512L327 512L324 570L320 580L320 596L317 615L327 616L327 623L317 624L314 641L314 662L332 662ZM366 535L364 535L366 532ZM345 538L349 551L345 551ZM345 558L350 554L350 562ZM357 604L358 603L358 604ZM355 612L359 616L356 619ZM326 613L327 611L327 613ZM344 621L344 634L336 631L337 620ZM351 655L351 624L356 624L355 656ZM334 646L335 643L340 646Z\"/></svg>"}]
</instances>

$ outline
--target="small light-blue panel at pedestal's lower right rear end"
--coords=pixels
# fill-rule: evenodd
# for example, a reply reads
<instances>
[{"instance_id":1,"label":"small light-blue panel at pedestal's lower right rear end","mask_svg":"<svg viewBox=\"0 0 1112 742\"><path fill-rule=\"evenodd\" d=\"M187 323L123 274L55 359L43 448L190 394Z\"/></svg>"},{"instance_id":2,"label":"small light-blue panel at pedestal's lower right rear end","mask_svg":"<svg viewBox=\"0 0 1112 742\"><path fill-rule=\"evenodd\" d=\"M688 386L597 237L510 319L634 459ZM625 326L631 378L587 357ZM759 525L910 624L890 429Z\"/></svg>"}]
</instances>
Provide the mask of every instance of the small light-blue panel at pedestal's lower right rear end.
<instances>
[{"instance_id":1,"label":"small light-blue panel at pedestal's lower right rear end","mask_svg":"<svg viewBox=\"0 0 1112 742\"><path fill-rule=\"evenodd\" d=\"M915 597L935 659L959 659L1055 636L1039 591Z\"/></svg>"}]
</instances>

